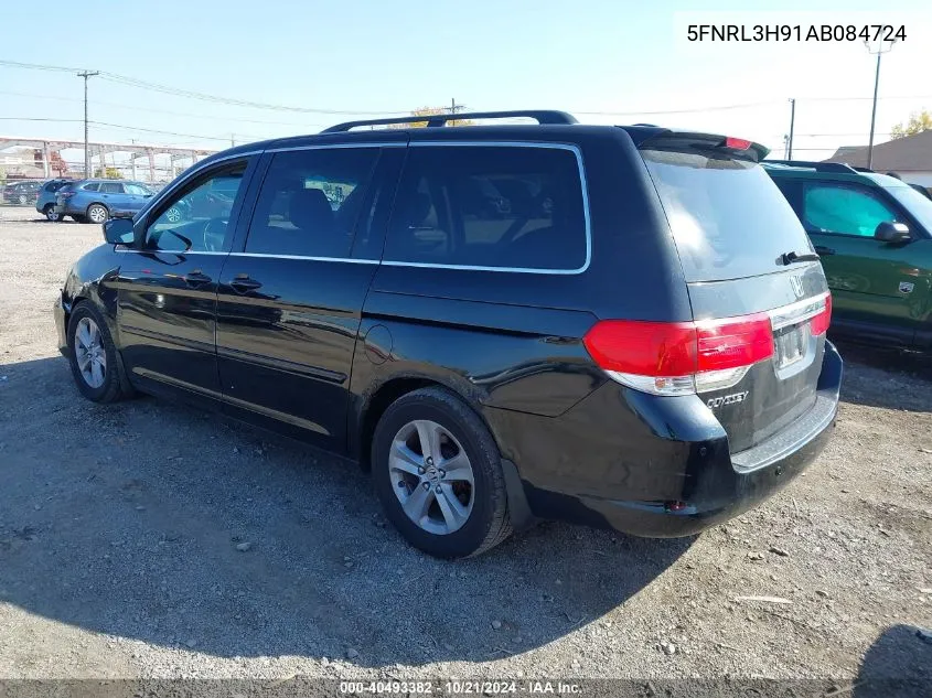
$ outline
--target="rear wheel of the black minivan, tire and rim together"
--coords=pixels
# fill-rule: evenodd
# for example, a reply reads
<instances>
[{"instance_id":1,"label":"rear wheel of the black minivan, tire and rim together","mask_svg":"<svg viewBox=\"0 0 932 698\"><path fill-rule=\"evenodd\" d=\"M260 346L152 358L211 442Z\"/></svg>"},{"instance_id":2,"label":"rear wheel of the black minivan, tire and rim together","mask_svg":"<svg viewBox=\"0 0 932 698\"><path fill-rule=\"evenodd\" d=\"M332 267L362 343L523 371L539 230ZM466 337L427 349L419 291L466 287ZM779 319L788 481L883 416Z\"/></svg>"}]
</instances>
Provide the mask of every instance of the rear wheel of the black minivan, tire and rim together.
<instances>
[{"instance_id":1,"label":"rear wheel of the black minivan, tire and rim together","mask_svg":"<svg viewBox=\"0 0 932 698\"><path fill-rule=\"evenodd\" d=\"M441 388L396 400L372 444L386 516L408 543L439 558L480 555L511 535L501 460L479 416Z\"/></svg>"}]
</instances>

